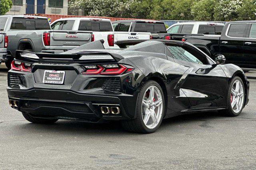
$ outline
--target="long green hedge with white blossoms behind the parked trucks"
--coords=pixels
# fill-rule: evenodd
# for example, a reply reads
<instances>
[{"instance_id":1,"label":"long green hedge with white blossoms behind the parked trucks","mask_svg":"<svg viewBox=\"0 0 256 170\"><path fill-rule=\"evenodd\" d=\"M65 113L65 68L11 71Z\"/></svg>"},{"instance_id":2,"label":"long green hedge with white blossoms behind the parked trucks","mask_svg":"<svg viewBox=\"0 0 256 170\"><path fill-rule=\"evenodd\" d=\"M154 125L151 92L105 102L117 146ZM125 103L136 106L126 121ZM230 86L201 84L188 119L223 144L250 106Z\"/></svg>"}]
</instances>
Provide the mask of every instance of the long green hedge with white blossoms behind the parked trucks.
<instances>
[{"instance_id":1,"label":"long green hedge with white blossoms behind the parked trucks","mask_svg":"<svg viewBox=\"0 0 256 170\"><path fill-rule=\"evenodd\" d=\"M256 0L69 0L84 15L156 20L255 20Z\"/></svg>"}]
</instances>

